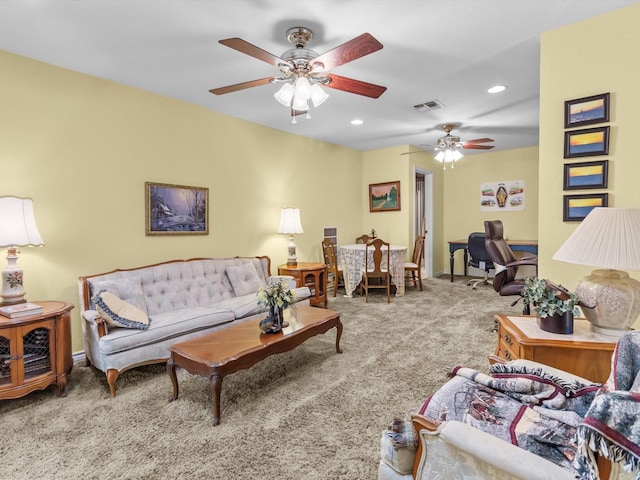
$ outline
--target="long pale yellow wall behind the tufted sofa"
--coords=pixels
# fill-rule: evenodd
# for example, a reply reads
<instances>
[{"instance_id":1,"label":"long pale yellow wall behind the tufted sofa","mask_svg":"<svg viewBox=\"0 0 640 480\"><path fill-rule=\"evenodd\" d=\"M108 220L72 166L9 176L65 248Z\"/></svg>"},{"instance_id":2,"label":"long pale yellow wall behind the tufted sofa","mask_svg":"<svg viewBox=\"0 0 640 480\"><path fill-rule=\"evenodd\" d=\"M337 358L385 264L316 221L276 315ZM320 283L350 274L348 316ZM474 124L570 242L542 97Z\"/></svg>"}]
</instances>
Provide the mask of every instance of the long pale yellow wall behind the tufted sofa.
<instances>
[{"instance_id":1,"label":"long pale yellow wall behind the tufted sofa","mask_svg":"<svg viewBox=\"0 0 640 480\"><path fill-rule=\"evenodd\" d=\"M45 241L19 260L29 300L77 306L80 275L176 258L268 255L275 273L283 206L301 210L302 260L325 226L361 233L361 152L4 52L0 71L0 195L33 198ZM145 236L145 181L209 188L210 234Z\"/></svg>"}]
</instances>

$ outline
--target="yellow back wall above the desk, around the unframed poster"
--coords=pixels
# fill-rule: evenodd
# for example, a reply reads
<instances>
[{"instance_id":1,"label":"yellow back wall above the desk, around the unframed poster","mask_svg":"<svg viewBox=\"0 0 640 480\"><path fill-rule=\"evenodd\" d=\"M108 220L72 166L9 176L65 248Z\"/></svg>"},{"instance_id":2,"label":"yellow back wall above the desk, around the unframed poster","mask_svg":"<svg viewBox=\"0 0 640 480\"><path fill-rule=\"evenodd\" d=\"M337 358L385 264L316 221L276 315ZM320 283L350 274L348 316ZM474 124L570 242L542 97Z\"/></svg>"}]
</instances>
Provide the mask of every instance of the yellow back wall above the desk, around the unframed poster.
<instances>
[{"instance_id":1,"label":"yellow back wall above the desk, around the unframed poster","mask_svg":"<svg viewBox=\"0 0 640 480\"><path fill-rule=\"evenodd\" d=\"M480 211L480 185L486 182L524 180L524 211ZM485 220L502 220L507 239L538 238L538 147L467 155L455 168L444 170L445 211L442 246L449 259L449 240L465 239L471 232L484 232ZM455 270L462 273L462 250L456 252ZM448 264L446 271L449 271ZM533 272L532 274L535 274Z\"/></svg>"}]
</instances>

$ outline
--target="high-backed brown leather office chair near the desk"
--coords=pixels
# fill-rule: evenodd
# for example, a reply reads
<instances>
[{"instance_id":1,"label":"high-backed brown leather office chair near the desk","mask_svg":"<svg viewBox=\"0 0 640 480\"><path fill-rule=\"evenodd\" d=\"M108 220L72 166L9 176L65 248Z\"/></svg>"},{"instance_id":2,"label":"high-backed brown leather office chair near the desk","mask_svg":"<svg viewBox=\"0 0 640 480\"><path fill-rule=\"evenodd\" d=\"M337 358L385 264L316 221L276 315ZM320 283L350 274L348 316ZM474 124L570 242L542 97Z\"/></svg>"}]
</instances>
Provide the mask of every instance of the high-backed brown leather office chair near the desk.
<instances>
[{"instance_id":1,"label":"high-backed brown leather office chair near the desk","mask_svg":"<svg viewBox=\"0 0 640 480\"><path fill-rule=\"evenodd\" d=\"M500 220L484 222L485 247L495 268L493 289L500 295L522 295L524 278L516 278L518 269L523 265L533 265L538 274L538 257L517 259L511 247L504 239L503 226Z\"/></svg>"}]
</instances>

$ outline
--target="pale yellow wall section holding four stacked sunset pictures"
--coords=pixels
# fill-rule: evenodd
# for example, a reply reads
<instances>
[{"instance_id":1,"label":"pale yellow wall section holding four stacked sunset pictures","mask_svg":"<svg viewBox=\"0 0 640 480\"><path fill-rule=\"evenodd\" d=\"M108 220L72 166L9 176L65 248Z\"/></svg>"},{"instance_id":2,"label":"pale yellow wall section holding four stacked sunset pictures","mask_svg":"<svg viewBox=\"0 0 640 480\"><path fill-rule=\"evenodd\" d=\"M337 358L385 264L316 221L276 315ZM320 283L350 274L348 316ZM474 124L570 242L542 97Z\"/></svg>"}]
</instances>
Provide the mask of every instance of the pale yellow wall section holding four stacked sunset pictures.
<instances>
[{"instance_id":1,"label":"pale yellow wall section holding four stacked sunset pictures","mask_svg":"<svg viewBox=\"0 0 640 480\"><path fill-rule=\"evenodd\" d=\"M540 275L573 288L593 268L552 260L577 223L562 221L563 164L609 160L609 206L640 208L640 4L542 35L540 81ZM611 92L609 155L563 158L564 102ZM605 190L591 190L605 192ZM640 239L639 239L640 241ZM637 272L630 272L640 278ZM635 327L640 325L636 322Z\"/></svg>"}]
</instances>

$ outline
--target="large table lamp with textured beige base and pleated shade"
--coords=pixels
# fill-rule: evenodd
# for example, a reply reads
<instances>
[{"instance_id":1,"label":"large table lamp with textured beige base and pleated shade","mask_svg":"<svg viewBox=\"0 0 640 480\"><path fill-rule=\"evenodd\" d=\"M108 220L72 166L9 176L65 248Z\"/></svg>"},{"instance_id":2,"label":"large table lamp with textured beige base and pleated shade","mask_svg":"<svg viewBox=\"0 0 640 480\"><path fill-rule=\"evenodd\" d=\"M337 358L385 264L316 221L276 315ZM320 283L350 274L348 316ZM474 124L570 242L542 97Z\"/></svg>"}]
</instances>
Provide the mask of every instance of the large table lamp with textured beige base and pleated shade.
<instances>
[{"instance_id":1,"label":"large table lamp with textured beige base and pleated shade","mask_svg":"<svg viewBox=\"0 0 640 480\"><path fill-rule=\"evenodd\" d=\"M640 314L640 282L622 270L640 270L640 210L597 207L553 256L598 267L575 289L593 331L620 337Z\"/></svg>"}]
</instances>

